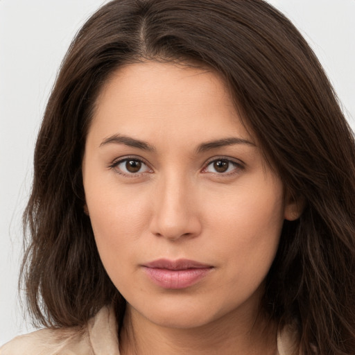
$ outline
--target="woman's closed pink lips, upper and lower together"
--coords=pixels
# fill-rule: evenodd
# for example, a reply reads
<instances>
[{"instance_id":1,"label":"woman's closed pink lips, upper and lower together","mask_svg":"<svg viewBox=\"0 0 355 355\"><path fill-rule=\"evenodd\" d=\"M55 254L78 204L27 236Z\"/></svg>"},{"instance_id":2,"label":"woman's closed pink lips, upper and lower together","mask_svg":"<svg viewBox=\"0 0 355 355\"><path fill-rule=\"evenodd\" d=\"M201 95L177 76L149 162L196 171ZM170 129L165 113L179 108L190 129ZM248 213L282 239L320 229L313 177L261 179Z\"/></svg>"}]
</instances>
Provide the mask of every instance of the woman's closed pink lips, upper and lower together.
<instances>
[{"instance_id":1,"label":"woman's closed pink lips, upper and lower together","mask_svg":"<svg viewBox=\"0 0 355 355\"><path fill-rule=\"evenodd\" d=\"M143 266L148 277L162 288L187 288L205 277L212 266L197 261L159 259Z\"/></svg>"}]
</instances>

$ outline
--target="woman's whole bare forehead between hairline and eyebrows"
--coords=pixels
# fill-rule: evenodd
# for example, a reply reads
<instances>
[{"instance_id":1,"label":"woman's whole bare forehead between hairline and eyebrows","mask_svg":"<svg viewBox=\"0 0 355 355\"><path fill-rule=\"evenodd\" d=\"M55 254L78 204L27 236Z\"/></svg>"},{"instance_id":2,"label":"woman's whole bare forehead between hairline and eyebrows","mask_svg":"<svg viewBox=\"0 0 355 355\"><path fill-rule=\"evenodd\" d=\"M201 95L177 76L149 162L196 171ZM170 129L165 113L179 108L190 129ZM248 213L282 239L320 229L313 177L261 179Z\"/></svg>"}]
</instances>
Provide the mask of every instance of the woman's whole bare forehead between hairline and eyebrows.
<instances>
[{"instance_id":1,"label":"woman's whole bare forehead between hairline and eyebrows","mask_svg":"<svg viewBox=\"0 0 355 355\"><path fill-rule=\"evenodd\" d=\"M89 134L152 139L250 139L224 80L214 71L171 62L127 64L110 76L96 100Z\"/></svg>"}]
</instances>

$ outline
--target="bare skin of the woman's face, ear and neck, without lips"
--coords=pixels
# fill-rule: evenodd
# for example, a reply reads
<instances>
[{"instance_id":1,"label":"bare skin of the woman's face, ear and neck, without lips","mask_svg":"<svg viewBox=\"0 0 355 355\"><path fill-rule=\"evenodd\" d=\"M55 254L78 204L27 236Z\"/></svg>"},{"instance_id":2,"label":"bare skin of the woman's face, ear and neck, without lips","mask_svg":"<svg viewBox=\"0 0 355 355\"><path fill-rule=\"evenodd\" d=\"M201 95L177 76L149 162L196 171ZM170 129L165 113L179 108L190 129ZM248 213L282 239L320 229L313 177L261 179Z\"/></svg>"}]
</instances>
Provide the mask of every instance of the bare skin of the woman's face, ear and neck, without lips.
<instances>
[{"instance_id":1,"label":"bare skin of the woman's face, ear and neck, without lips","mask_svg":"<svg viewBox=\"0 0 355 355\"><path fill-rule=\"evenodd\" d=\"M98 252L128 302L122 354L274 354L259 302L283 221L299 211L216 73L153 61L116 71L96 101L83 182ZM161 258L211 270L166 289L142 267Z\"/></svg>"}]
</instances>

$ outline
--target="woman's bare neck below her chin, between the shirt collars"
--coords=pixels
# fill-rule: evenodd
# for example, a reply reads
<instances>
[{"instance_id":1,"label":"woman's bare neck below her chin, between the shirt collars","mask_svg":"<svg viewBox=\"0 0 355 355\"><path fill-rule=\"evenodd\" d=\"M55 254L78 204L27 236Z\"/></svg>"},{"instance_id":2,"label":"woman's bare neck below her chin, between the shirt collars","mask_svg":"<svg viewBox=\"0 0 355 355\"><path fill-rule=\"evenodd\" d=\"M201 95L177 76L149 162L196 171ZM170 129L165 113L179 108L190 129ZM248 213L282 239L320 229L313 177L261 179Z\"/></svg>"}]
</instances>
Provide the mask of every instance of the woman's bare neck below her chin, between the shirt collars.
<instances>
[{"instance_id":1,"label":"woman's bare neck below her chin, between the shirt collars","mask_svg":"<svg viewBox=\"0 0 355 355\"><path fill-rule=\"evenodd\" d=\"M262 315L246 322L231 314L193 329L154 324L128 306L120 332L121 355L274 355L277 325Z\"/></svg>"}]
</instances>

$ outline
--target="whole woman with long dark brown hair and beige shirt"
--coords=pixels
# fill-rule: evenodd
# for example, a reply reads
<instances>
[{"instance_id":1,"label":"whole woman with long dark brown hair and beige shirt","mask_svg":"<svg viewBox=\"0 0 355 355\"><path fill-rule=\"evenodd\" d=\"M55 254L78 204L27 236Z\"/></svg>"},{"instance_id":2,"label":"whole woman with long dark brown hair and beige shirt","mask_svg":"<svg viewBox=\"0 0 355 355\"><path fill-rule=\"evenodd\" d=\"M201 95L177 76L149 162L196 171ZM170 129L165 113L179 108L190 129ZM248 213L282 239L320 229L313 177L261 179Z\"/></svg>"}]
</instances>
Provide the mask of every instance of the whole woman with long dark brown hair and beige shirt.
<instances>
[{"instance_id":1,"label":"whole woman with long dark brown hair and beige shirt","mask_svg":"<svg viewBox=\"0 0 355 355\"><path fill-rule=\"evenodd\" d=\"M261 0L112 1L64 58L25 218L44 329L0 354L352 354L354 136Z\"/></svg>"}]
</instances>

